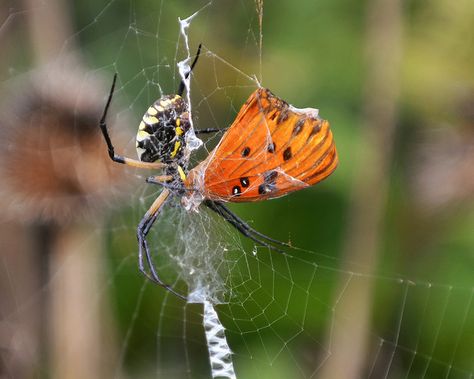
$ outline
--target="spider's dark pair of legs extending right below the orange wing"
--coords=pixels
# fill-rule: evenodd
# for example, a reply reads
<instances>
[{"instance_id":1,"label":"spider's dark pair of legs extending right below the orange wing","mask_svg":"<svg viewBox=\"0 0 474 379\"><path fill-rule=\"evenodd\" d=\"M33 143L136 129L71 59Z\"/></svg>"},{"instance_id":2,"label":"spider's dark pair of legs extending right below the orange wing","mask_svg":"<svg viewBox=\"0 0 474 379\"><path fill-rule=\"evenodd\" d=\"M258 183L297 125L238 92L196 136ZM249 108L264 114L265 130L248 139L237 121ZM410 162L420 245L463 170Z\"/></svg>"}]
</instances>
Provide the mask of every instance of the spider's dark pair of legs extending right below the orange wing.
<instances>
[{"instance_id":1,"label":"spider's dark pair of legs extending right below the orange wing","mask_svg":"<svg viewBox=\"0 0 474 379\"><path fill-rule=\"evenodd\" d=\"M234 213L232 213L227 207L225 207L222 203L219 203L217 201L206 201L205 205L212 209L214 212L216 212L218 215L222 216L224 220L226 220L229 224L231 224L234 228L236 228L240 233L242 233L245 237L250 238L252 241L267 247L270 250L277 251L279 253L284 253L284 250L281 250L280 248L271 245L269 242L282 245L285 247L289 247L288 244L285 244L283 242L280 242L278 240L274 240L273 238L267 237L266 235L256 231L255 229L251 228L245 221L243 221L241 218L236 216ZM258 238L258 237L262 238ZM264 240L267 241L264 241Z\"/></svg>"}]
</instances>

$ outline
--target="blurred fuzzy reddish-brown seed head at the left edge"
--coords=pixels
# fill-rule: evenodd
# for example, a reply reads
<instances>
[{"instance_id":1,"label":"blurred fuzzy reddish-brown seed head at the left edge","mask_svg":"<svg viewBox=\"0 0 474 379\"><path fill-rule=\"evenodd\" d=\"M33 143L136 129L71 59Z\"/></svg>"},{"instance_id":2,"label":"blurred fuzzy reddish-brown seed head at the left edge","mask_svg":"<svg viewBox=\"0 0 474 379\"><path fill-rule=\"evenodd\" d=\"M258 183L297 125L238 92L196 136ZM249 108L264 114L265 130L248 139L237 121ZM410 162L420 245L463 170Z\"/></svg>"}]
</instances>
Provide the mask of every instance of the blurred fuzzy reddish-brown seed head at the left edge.
<instances>
[{"instance_id":1,"label":"blurred fuzzy reddish-brown seed head at the left edge","mask_svg":"<svg viewBox=\"0 0 474 379\"><path fill-rule=\"evenodd\" d=\"M8 92L0 119L7 216L62 223L100 209L121 175L98 131L104 92L96 78L52 66L15 80Z\"/></svg>"}]
</instances>

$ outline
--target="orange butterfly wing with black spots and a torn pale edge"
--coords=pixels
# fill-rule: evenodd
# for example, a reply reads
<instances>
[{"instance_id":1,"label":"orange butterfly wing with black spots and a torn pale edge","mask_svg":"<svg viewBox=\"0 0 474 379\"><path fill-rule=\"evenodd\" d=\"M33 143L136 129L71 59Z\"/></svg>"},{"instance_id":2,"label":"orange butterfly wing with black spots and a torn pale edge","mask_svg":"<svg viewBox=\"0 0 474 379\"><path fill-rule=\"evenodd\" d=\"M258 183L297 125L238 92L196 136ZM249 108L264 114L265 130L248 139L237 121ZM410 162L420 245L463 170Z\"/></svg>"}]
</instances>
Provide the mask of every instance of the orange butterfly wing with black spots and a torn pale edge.
<instances>
[{"instance_id":1,"label":"orange butterfly wing with black spots and a torn pale edge","mask_svg":"<svg viewBox=\"0 0 474 379\"><path fill-rule=\"evenodd\" d=\"M329 122L257 89L186 186L211 200L258 201L316 184L337 166Z\"/></svg>"}]
</instances>

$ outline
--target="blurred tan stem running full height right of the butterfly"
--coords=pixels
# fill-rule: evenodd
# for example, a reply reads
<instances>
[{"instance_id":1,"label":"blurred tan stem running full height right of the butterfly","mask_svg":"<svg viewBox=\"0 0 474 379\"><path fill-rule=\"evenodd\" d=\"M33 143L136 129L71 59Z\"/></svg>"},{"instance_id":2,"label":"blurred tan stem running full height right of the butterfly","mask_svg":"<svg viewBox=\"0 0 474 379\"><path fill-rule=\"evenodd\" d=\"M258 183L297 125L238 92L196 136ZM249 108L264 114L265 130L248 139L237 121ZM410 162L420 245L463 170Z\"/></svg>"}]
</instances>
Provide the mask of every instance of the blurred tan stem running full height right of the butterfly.
<instances>
[{"instance_id":1,"label":"blurred tan stem running full height right of the butterfly","mask_svg":"<svg viewBox=\"0 0 474 379\"><path fill-rule=\"evenodd\" d=\"M328 360L319 378L366 377L373 362L368 336L373 302L373 280L389 185L390 160L397 118L401 57L401 0L371 0L367 18L366 127L352 193L352 210L345 243L346 262L365 268L362 277L341 277L334 323L328 333ZM344 272L350 271L348 264ZM380 362L378 362L380 363ZM370 368L370 367L369 367ZM376 374L375 374L376 375Z\"/></svg>"}]
</instances>

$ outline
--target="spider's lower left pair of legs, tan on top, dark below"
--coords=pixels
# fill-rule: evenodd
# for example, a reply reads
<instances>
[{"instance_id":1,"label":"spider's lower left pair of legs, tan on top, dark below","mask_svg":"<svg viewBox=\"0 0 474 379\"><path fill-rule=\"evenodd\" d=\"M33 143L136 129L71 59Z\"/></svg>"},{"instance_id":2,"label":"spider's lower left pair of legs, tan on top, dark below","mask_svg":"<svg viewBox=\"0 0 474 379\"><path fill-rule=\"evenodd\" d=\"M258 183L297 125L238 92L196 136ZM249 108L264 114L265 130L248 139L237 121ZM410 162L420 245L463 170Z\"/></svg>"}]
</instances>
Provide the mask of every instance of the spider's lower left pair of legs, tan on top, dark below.
<instances>
[{"instance_id":1,"label":"spider's lower left pair of legs, tan on top, dark below","mask_svg":"<svg viewBox=\"0 0 474 379\"><path fill-rule=\"evenodd\" d=\"M148 279L160 285L161 287L166 288L168 291L174 293L181 299L186 300L185 296L176 292L170 285L164 283L160 279L155 270L155 266L150 255L150 248L148 247L148 243L146 241L146 236L150 231L151 227L153 226L154 222L156 221L156 218L158 217L161 209L166 204L166 200L168 199L169 195L170 191L165 188L161 192L160 196L158 196L153 202L150 209L148 209L148 211L145 213L145 216L143 216L142 220L140 221L140 224L138 224L138 267L143 273L143 275L145 275ZM146 259L147 265L150 268L150 273L148 273L145 269L144 258Z\"/></svg>"}]
</instances>

